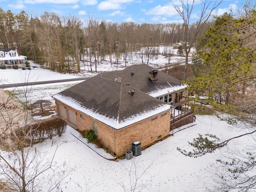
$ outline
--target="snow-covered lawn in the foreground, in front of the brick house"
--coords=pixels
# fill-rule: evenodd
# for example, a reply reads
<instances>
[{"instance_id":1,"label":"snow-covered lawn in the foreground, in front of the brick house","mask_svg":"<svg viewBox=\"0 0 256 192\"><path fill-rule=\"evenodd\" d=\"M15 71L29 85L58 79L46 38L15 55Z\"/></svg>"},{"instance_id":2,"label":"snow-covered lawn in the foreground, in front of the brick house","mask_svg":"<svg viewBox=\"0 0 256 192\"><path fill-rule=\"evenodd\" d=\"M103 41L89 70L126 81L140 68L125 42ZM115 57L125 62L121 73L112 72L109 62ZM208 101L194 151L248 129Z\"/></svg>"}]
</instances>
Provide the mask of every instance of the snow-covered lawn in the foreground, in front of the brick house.
<instances>
[{"instance_id":1,"label":"snow-covered lawn in the foreground, in front of the brick house","mask_svg":"<svg viewBox=\"0 0 256 192\"><path fill-rule=\"evenodd\" d=\"M194 125L194 126L191 126ZM214 184L216 174L222 170L216 159L224 158L227 148L234 146L243 149L250 142L250 137L237 139L226 148L216 150L212 154L206 154L200 158L190 158L182 155L177 147L188 149L187 141L192 142L198 134L212 133L220 139L230 138L239 132L233 130L225 121L220 121L217 116L197 116L196 122L183 126L185 130L176 132L174 136L158 142L142 151L142 155L133 157L132 160L110 161L102 158L96 152L88 148L72 134L86 143L76 130L68 126L66 133L55 142L61 144L55 155L54 161L61 164L65 162L69 168L75 168L73 172L62 182L63 192L86 191L90 192L116 192L130 188L130 180L134 182L135 171L137 176L143 174L138 180L135 191L148 192L205 192ZM72 133L72 134L70 134ZM113 158L101 148L89 144L97 152L106 158ZM51 153L56 148L52 140L46 140L37 144L42 151ZM131 146L132 147L132 146ZM131 175L131 178L130 178ZM44 178L46 176L44 175ZM134 183L132 186L134 187Z\"/></svg>"}]
</instances>

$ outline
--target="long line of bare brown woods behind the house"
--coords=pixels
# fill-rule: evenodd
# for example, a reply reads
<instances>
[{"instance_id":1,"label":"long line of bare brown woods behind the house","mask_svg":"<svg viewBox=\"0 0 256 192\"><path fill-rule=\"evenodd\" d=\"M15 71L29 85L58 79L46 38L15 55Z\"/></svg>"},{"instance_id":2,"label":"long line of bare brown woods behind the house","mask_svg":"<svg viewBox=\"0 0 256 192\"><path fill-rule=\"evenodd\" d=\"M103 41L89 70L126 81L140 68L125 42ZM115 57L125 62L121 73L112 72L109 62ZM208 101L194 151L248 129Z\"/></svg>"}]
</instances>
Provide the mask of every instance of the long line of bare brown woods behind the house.
<instances>
[{"instance_id":1,"label":"long line of bare brown woods behind the house","mask_svg":"<svg viewBox=\"0 0 256 192\"><path fill-rule=\"evenodd\" d=\"M110 55L111 63L112 57L118 62L120 56L126 62L128 54L140 53L142 47L149 54L152 46L184 41L184 27L180 23L119 24L90 15L82 22L80 17L72 15L60 17L54 12L44 12L32 16L24 10L16 14L0 8L0 47L18 47L20 55L58 72L80 72L77 65L80 61L95 62L97 71L97 64L106 55ZM196 33L196 27L186 26L190 36Z\"/></svg>"}]
</instances>

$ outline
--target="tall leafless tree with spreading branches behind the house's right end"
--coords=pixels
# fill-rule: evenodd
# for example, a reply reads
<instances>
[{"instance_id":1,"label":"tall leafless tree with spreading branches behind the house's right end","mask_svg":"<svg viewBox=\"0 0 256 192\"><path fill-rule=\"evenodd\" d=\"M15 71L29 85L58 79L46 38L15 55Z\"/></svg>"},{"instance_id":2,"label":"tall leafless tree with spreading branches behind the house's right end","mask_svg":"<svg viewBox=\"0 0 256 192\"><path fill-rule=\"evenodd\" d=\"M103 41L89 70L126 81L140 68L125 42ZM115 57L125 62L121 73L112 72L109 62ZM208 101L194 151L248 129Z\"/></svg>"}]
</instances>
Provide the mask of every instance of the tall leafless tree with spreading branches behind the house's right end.
<instances>
[{"instance_id":1,"label":"tall leafless tree with spreading branches behind the house's right end","mask_svg":"<svg viewBox=\"0 0 256 192\"><path fill-rule=\"evenodd\" d=\"M184 42L185 42L185 70L184 70L184 80L187 79L188 71L188 56L190 50L195 42L198 33L206 24L207 20L210 18L214 10L220 5L222 0L200 0L201 4L201 13L198 15L198 19L191 23L192 13L196 7L196 0L178 0L178 2L172 1L172 6L176 9L178 14L181 16L184 25ZM197 6L197 9L200 10ZM194 33L190 33L190 28L195 28Z\"/></svg>"}]
</instances>

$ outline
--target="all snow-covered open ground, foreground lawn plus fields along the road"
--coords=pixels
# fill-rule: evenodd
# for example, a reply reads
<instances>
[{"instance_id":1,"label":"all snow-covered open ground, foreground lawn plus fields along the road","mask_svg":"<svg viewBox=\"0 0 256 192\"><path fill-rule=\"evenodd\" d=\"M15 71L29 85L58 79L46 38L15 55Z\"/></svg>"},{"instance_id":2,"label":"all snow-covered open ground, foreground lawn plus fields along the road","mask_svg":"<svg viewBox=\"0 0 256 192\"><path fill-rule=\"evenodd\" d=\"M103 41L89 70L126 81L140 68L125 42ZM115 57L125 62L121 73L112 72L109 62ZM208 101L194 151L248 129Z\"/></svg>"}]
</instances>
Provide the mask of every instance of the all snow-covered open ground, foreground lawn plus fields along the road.
<instances>
[{"instance_id":1,"label":"all snow-covered open ground, foreground lawn plus fields along the road","mask_svg":"<svg viewBox=\"0 0 256 192\"><path fill-rule=\"evenodd\" d=\"M167 62L164 59L158 58L155 65L150 65L164 64ZM182 58L176 58L176 61L180 59ZM173 62L175 61L173 60ZM107 62L98 66L99 71L106 71L110 68L111 66ZM123 68L122 65L118 66L118 69ZM0 83L24 82L24 77L29 77L30 81L42 81L87 75L91 74L86 71L78 75L58 74L39 67L30 71L0 70ZM52 95L76 83L78 82L32 86L30 100L32 102L39 99L52 100ZM22 90L22 87L16 88L17 92L22 92ZM224 156L229 156L229 150L236 148L243 152L246 146L255 142L253 138L246 136L230 142L226 147L216 150L212 154L206 154L200 158L190 158L182 155L176 148L189 150L188 141L192 142L198 134L214 134L221 140L225 140L248 130L241 132L225 121L221 121L215 115L198 115L196 116L196 122L182 128L186 129L176 132L174 136L143 150L141 156L134 157L132 160L110 161L102 158L75 138L72 134L87 143L86 139L82 138L76 130L69 126L66 133L60 138L55 137L53 140L46 140L34 147L44 154L44 159L51 159L58 145L53 159L54 164L56 166L61 165L66 171L72 170L60 185L52 191L122 192L131 191L131 187L134 187L136 188L135 192L206 192L215 184L214 180L218 179L218 175L224 172L216 159L225 160ZM113 158L101 148L97 148L93 144L88 145L102 156ZM137 180L135 186L136 176L137 178L138 176L141 177ZM48 172L45 172L36 180L38 186L34 191L48 191L47 187L53 181Z\"/></svg>"}]
</instances>

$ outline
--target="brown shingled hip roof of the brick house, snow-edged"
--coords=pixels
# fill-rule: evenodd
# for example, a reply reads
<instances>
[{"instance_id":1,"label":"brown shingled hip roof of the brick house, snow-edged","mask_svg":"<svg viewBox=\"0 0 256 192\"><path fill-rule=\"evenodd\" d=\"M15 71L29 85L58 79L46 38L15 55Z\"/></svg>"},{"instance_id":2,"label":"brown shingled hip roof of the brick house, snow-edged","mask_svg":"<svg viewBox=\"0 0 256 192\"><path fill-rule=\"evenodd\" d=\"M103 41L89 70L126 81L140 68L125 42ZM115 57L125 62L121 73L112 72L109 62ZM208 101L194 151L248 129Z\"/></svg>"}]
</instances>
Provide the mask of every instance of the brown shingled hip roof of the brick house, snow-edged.
<instances>
[{"instance_id":1,"label":"brown shingled hip roof of the brick house, snow-edged","mask_svg":"<svg viewBox=\"0 0 256 192\"><path fill-rule=\"evenodd\" d=\"M158 72L158 80L150 81L148 72L152 69L139 64L104 72L52 97L118 130L173 108L152 95L179 90L181 81L163 72ZM118 77L121 82L116 81Z\"/></svg>"}]
</instances>

